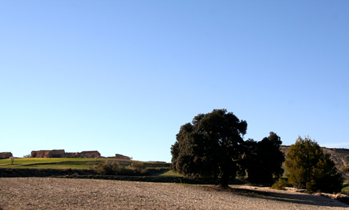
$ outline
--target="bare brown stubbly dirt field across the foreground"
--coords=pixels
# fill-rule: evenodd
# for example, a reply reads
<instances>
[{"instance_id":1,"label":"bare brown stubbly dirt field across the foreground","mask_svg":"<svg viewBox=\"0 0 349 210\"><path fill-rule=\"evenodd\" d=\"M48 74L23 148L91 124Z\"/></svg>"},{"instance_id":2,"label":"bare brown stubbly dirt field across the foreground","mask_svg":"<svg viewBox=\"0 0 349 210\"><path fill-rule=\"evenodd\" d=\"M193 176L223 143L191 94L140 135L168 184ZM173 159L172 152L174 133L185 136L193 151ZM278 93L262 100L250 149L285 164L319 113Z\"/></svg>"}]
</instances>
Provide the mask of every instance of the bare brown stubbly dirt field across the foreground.
<instances>
[{"instance_id":1,"label":"bare brown stubbly dirt field across the foreground","mask_svg":"<svg viewBox=\"0 0 349 210\"><path fill-rule=\"evenodd\" d=\"M269 188L257 193L136 181L0 178L0 209L348 209L327 197ZM267 193L258 193L267 192Z\"/></svg>"}]
</instances>

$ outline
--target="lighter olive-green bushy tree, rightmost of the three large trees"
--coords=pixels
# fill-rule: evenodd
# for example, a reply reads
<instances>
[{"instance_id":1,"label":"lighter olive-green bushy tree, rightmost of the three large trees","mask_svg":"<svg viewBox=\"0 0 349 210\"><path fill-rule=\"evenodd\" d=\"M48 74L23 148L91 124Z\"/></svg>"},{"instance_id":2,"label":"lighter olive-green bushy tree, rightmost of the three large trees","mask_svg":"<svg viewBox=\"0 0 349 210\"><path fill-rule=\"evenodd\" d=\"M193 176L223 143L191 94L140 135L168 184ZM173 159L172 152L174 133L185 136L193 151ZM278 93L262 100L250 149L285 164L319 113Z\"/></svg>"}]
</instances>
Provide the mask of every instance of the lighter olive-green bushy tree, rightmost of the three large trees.
<instances>
[{"instance_id":1,"label":"lighter olive-green bushy tree, rightmost of the three large trees","mask_svg":"<svg viewBox=\"0 0 349 210\"><path fill-rule=\"evenodd\" d=\"M322 148L309 137L298 137L290 146L285 165L288 168L288 181L296 188L325 193L341 192L343 179Z\"/></svg>"}]
</instances>

